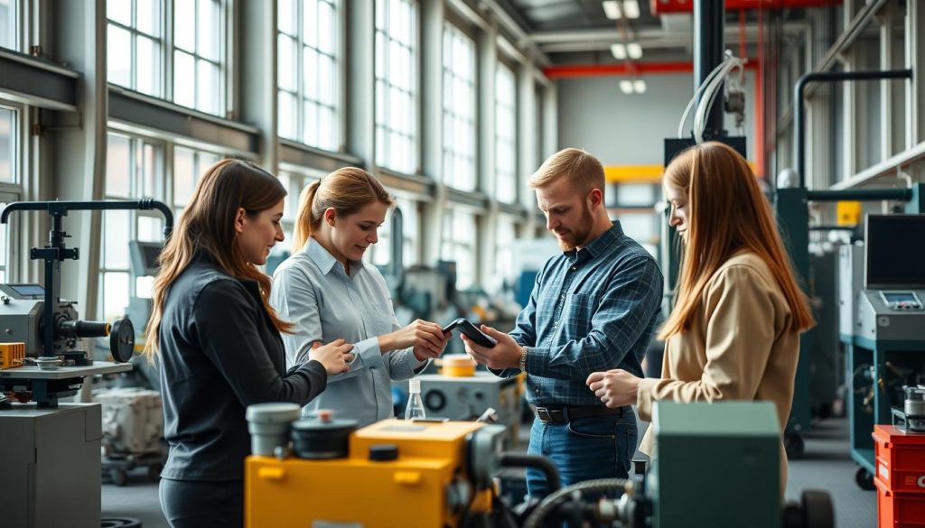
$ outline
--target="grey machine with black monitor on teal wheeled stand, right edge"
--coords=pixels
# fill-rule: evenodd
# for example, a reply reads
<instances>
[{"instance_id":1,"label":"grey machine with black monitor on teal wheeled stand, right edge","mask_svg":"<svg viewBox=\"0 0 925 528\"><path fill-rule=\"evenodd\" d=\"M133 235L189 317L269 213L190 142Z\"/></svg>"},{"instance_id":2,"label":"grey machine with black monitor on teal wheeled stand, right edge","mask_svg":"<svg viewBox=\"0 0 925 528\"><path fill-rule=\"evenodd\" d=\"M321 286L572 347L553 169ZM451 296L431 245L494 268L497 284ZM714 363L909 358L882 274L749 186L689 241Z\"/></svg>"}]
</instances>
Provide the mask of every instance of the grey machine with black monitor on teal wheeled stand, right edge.
<instances>
[{"instance_id":1,"label":"grey machine with black monitor on teal wheeled stand, right edge","mask_svg":"<svg viewBox=\"0 0 925 528\"><path fill-rule=\"evenodd\" d=\"M875 424L892 422L903 387L925 383L925 215L867 215L864 289L846 343L857 485L874 488Z\"/></svg>"}]
</instances>

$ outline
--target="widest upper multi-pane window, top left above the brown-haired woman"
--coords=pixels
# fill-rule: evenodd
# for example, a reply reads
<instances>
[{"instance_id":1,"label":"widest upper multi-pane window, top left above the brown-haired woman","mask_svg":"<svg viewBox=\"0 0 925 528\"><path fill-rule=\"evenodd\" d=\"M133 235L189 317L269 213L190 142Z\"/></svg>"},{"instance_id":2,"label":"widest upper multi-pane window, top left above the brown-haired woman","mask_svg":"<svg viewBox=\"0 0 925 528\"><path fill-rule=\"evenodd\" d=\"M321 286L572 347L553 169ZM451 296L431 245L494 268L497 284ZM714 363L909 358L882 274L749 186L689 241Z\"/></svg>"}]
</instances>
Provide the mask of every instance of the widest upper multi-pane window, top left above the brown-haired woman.
<instances>
[{"instance_id":1,"label":"widest upper multi-pane window, top left above the brown-haired woman","mask_svg":"<svg viewBox=\"0 0 925 528\"><path fill-rule=\"evenodd\" d=\"M109 0L109 81L225 117L227 17L224 0Z\"/></svg>"}]
</instances>

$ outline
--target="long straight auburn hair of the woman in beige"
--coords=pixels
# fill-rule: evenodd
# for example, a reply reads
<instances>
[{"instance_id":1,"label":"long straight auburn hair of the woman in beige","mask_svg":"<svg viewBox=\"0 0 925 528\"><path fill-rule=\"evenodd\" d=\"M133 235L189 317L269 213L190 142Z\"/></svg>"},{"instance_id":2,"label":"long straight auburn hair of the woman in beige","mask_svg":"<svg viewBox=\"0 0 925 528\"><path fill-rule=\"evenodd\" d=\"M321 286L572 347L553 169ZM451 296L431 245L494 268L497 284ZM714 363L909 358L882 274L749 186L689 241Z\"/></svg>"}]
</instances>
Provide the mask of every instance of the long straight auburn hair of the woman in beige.
<instances>
[{"instance_id":1,"label":"long straight auburn hair of the woman in beige","mask_svg":"<svg viewBox=\"0 0 925 528\"><path fill-rule=\"evenodd\" d=\"M674 158L665 169L665 180L687 190L690 222L677 302L660 339L690 328L709 279L742 250L756 253L768 264L793 313L790 330L799 332L815 324L777 233L771 204L745 158L723 143L701 143Z\"/></svg>"}]
</instances>

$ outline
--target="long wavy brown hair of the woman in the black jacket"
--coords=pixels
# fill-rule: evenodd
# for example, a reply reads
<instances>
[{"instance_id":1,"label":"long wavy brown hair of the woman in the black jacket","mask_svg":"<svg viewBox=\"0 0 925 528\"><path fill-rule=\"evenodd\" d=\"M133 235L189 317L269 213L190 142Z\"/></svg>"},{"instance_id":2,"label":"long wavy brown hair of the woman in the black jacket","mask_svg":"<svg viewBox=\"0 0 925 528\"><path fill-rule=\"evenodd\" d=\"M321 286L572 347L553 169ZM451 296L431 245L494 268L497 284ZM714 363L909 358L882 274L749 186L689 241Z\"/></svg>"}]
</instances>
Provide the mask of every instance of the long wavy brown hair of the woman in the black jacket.
<instances>
[{"instance_id":1,"label":"long wavy brown hair of the woman in the black jacket","mask_svg":"<svg viewBox=\"0 0 925 528\"><path fill-rule=\"evenodd\" d=\"M206 169L158 258L160 270L154 278L154 307L144 343L144 354L149 360L157 354L157 331L167 289L195 260L197 252L207 253L230 276L256 281L273 325L279 331L291 329L292 325L279 319L267 302L270 277L244 258L234 228L240 208L255 216L285 197L286 189L279 180L253 163L226 159Z\"/></svg>"}]
</instances>

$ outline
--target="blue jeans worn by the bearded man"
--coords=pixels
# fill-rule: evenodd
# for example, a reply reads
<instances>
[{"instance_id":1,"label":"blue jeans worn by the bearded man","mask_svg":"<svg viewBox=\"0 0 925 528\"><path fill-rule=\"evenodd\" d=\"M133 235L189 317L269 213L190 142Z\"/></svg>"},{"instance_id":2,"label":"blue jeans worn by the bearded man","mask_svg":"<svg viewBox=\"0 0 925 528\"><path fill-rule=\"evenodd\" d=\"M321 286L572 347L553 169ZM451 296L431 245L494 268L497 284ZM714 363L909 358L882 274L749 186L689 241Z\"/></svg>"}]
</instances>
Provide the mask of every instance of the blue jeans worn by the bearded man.
<instances>
[{"instance_id":1,"label":"blue jeans worn by the bearded man","mask_svg":"<svg viewBox=\"0 0 925 528\"><path fill-rule=\"evenodd\" d=\"M636 445L635 412L607 414L572 420L566 424L541 422L530 430L527 453L548 458L559 470L562 487L598 478L626 478ZM526 489L531 498L546 497L546 474L526 470Z\"/></svg>"}]
</instances>

